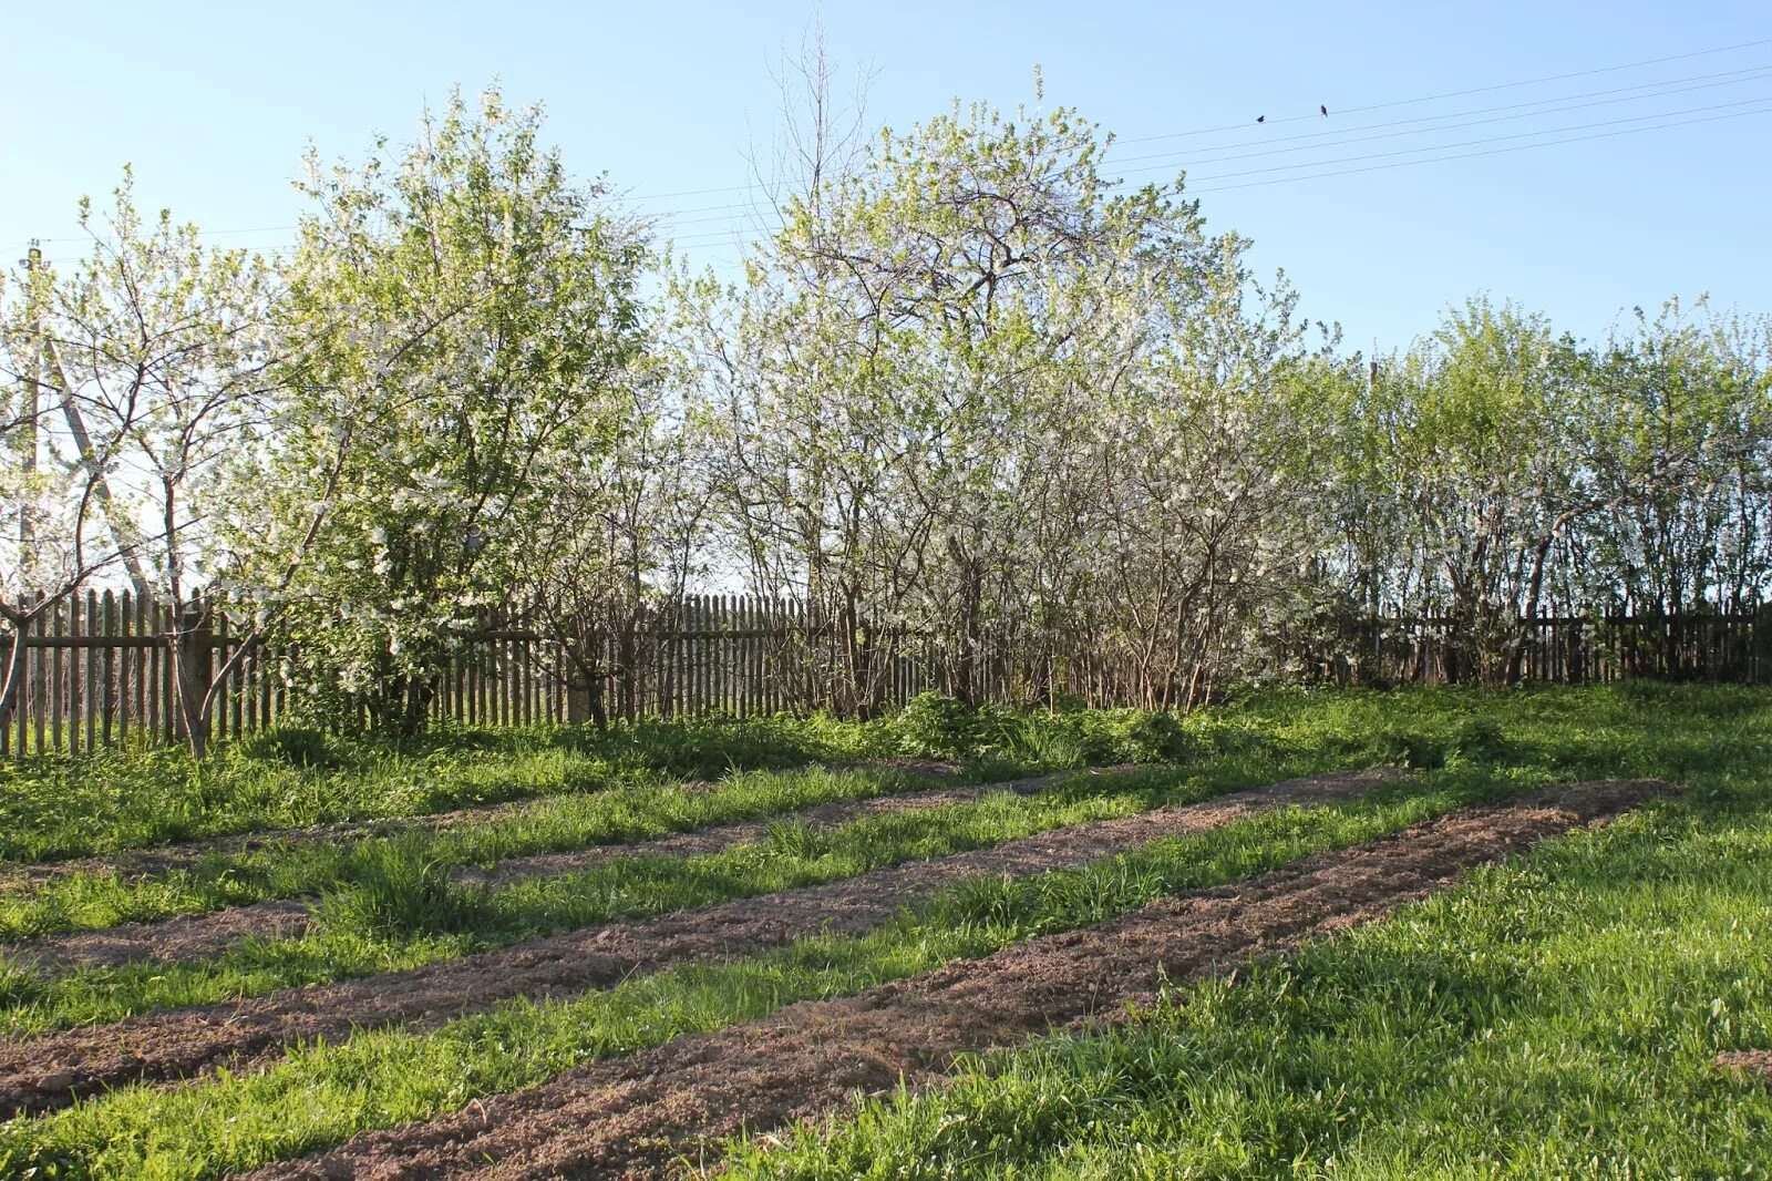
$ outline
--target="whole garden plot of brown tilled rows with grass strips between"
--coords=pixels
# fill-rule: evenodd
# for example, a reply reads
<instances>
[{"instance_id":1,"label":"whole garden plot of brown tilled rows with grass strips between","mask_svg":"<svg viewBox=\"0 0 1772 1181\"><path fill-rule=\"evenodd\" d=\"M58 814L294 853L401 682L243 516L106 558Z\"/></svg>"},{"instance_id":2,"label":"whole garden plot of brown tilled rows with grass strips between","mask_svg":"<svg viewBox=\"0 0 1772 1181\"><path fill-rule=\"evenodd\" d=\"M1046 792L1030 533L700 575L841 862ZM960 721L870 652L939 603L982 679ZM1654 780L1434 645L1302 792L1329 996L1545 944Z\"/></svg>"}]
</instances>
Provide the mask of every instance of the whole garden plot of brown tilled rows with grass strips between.
<instances>
[{"instance_id":1,"label":"whole garden plot of brown tilled rows with grass strips between","mask_svg":"<svg viewBox=\"0 0 1772 1181\"><path fill-rule=\"evenodd\" d=\"M0 1172L845 1176L843 1137L913 1119L886 1114L902 1085L1138 1028L1476 867L1710 798L1680 800L1666 750L1356 754L1302 777L1235 755L996 784L789 771L670 816L592 793L21 867L16 908L106 903L5 945ZM252 878L266 849L314 860ZM229 872L257 897L209 890ZM103 922L129 906L174 913ZM1703 1055L1744 1068L1731 1094L1753 1037Z\"/></svg>"}]
</instances>

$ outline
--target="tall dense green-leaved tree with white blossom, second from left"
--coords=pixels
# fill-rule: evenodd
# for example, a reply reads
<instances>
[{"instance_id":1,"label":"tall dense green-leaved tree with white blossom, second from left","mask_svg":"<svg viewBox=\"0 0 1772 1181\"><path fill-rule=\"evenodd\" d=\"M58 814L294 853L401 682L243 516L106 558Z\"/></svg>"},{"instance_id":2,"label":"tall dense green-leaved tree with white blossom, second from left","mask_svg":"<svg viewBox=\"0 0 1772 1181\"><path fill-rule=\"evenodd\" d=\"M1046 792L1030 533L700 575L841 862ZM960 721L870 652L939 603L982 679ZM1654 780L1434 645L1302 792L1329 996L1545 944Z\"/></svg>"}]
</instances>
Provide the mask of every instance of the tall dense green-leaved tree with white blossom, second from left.
<instances>
[{"instance_id":1,"label":"tall dense green-leaved tree with white blossom, second from left","mask_svg":"<svg viewBox=\"0 0 1772 1181\"><path fill-rule=\"evenodd\" d=\"M548 475L617 443L643 241L542 147L539 110L496 90L457 92L361 167L308 165L287 316L312 344L264 479L285 541L330 509L282 635L310 692L408 734L450 654L546 559Z\"/></svg>"}]
</instances>

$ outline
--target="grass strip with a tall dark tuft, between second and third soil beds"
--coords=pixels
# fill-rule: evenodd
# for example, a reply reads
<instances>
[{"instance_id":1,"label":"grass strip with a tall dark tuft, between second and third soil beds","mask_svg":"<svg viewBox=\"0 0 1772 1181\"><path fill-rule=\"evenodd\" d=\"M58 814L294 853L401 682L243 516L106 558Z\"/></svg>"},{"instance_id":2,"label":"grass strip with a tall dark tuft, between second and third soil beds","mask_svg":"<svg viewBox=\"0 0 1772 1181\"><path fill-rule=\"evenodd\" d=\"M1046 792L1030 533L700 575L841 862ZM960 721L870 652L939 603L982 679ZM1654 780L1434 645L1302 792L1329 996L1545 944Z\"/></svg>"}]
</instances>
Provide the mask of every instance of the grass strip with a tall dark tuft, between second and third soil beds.
<instances>
[{"instance_id":1,"label":"grass strip with a tall dark tuft, between second and third soil beds","mask_svg":"<svg viewBox=\"0 0 1772 1181\"><path fill-rule=\"evenodd\" d=\"M1299 764L1285 771L1302 770ZM503 888L457 885L416 841L376 842L356 876L328 892L317 929L252 940L188 965L133 963L58 977L0 975L0 1030L21 1036L172 1005L214 1004L292 984L415 968L523 938L707 906L852 878L909 860L980 849L1262 782L1271 771L1226 761L1203 771L1150 768L1081 777L1038 796L991 793L976 802L868 816L813 830L778 826L769 839L696 856L631 856Z\"/></svg>"}]
</instances>

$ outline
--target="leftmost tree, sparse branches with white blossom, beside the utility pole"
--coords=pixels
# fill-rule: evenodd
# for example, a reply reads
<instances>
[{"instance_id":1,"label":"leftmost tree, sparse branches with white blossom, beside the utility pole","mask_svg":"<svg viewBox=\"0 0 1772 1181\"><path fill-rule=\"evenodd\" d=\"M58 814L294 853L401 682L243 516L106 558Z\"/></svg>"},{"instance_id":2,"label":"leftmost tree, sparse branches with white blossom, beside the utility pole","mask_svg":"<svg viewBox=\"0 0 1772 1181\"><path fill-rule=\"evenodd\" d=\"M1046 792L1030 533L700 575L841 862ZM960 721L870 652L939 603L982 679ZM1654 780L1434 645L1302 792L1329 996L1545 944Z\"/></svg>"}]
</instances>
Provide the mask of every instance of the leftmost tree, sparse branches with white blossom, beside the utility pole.
<instances>
[{"instance_id":1,"label":"leftmost tree, sparse branches with white blossom, beside the utility pole","mask_svg":"<svg viewBox=\"0 0 1772 1181\"><path fill-rule=\"evenodd\" d=\"M165 209L144 218L128 170L103 215L82 202L80 223L89 255L66 275L32 271L5 325L14 355L35 367L39 411L32 530L16 569L44 592L37 612L103 571L174 605L174 709L202 754L218 688L257 638L213 660L198 590L230 573L229 523L259 520L232 472L252 465L278 395L289 340L273 326L276 271L245 250L206 248Z\"/></svg>"}]
</instances>

